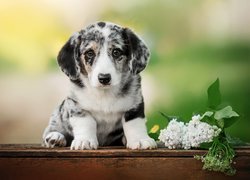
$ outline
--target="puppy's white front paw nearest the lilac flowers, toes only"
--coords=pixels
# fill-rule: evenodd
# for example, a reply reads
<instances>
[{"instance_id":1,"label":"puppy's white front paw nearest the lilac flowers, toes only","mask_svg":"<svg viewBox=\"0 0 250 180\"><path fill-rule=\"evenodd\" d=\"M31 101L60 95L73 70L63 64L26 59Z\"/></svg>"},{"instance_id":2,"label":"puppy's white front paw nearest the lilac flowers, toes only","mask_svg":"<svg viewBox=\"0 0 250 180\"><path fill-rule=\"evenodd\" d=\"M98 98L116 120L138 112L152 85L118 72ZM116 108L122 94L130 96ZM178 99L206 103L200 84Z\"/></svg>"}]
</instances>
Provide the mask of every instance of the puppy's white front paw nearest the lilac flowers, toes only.
<instances>
[{"instance_id":1,"label":"puppy's white front paw nearest the lilac flowers, toes only","mask_svg":"<svg viewBox=\"0 0 250 180\"><path fill-rule=\"evenodd\" d=\"M154 139L146 137L143 139L134 139L127 141L127 148L129 149L154 149L157 148L157 144Z\"/></svg>"}]
</instances>

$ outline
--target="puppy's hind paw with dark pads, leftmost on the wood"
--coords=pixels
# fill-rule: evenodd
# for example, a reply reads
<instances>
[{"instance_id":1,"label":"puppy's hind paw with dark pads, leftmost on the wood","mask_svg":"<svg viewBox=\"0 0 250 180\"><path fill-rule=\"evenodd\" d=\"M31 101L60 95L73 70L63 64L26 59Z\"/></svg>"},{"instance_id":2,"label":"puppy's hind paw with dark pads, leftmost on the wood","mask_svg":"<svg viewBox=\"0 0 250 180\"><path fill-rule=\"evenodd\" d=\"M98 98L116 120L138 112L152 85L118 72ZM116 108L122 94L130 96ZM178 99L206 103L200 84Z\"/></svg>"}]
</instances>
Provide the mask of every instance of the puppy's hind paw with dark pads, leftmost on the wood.
<instances>
[{"instance_id":1,"label":"puppy's hind paw with dark pads, leftmost on the wood","mask_svg":"<svg viewBox=\"0 0 250 180\"><path fill-rule=\"evenodd\" d=\"M55 146L66 146L67 142L63 134L59 132L50 132L44 139L44 146L54 148Z\"/></svg>"}]
</instances>

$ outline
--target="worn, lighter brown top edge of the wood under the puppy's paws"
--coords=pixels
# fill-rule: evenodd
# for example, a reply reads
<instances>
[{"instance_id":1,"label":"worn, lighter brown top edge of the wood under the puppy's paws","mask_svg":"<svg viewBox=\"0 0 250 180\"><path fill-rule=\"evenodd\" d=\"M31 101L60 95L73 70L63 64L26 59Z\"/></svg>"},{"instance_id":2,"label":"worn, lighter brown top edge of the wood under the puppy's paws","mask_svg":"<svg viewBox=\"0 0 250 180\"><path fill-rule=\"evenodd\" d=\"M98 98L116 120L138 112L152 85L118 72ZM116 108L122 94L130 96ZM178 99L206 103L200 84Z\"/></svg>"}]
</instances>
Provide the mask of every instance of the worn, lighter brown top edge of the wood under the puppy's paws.
<instances>
[{"instance_id":1,"label":"worn, lighter brown top edge of the wood under the puppy's paws","mask_svg":"<svg viewBox=\"0 0 250 180\"><path fill-rule=\"evenodd\" d=\"M206 150L130 150L124 147L100 147L97 150L70 150L69 147L45 148L38 144L0 144L0 157L193 157ZM238 147L236 156L249 156L250 146Z\"/></svg>"}]
</instances>

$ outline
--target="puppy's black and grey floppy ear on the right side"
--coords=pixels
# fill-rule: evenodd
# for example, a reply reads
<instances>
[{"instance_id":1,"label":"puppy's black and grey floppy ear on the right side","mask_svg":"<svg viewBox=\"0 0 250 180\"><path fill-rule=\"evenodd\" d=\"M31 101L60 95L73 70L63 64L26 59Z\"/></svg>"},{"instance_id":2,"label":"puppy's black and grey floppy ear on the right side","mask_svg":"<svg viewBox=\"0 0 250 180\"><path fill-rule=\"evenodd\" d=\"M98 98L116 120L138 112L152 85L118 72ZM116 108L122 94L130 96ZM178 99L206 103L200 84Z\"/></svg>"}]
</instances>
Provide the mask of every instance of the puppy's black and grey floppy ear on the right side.
<instances>
[{"instance_id":1,"label":"puppy's black and grey floppy ear on the right side","mask_svg":"<svg viewBox=\"0 0 250 180\"><path fill-rule=\"evenodd\" d=\"M128 41L131 60L129 68L132 74L140 73L147 65L150 56L149 49L145 43L130 29L125 28L125 37Z\"/></svg>"}]
</instances>

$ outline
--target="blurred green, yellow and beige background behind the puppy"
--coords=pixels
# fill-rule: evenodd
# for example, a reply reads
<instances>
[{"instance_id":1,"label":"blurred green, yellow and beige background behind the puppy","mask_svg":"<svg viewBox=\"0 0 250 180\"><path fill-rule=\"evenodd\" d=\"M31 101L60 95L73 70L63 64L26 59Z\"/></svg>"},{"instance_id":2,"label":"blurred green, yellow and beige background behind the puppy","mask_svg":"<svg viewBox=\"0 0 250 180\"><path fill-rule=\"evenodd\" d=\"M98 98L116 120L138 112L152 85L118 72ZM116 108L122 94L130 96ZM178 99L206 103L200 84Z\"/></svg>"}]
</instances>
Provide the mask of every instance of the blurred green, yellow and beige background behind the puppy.
<instances>
[{"instance_id":1,"label":"blurred green, yellow and beige background behind the puppy","mask_svg":"<svg viewBox=\"0 0 250 180\"><path fill-rule=\"evenodd\" d=\"M250 1L10 0L0 2L0 143L39 143L68 79L56 56L94 21L132 28L151 49L142 73L148 129L189 120L206 106L207 87L240 114L228 131L250 141Z\"/></svg>"}]
</instances>

